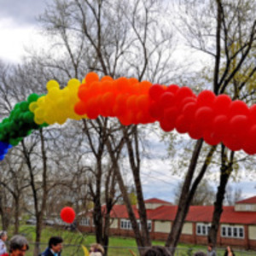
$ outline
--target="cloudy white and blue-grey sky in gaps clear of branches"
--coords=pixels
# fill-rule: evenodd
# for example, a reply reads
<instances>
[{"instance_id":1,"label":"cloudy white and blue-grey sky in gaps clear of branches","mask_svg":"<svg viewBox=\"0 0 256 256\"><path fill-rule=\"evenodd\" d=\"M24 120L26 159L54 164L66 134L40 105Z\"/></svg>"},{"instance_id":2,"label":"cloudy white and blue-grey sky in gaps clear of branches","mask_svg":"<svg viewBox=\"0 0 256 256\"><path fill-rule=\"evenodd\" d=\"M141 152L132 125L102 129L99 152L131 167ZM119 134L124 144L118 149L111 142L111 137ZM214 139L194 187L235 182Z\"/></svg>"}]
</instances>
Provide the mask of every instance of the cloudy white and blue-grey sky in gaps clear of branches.
<instances>
[{"instance_id":1,"label":"cloudy white and blue-grey sky in gaps clear of branches","mask_svg":"<svg viewBox=\"0 0 256 256\"><path fill-rule=\"evenodd\" d=\"M45 44L44 38L37 32L36 17L44 11L47 1L0 0L0 59L19 63L21 57L26 55L25 47L40 47ZM161 153L165 154L166 146L156 141L153 145L152 150L159 157L143 163L142 180L145 198L158 197L173 201L180 177L172 175L171 160L162 160L160 157ZM216 183L214 185L217 187ZM253 180L243 178L240 183L232 182L232 186L241 188L243 197L256 195Z\"/></svg>"}]
</instances>

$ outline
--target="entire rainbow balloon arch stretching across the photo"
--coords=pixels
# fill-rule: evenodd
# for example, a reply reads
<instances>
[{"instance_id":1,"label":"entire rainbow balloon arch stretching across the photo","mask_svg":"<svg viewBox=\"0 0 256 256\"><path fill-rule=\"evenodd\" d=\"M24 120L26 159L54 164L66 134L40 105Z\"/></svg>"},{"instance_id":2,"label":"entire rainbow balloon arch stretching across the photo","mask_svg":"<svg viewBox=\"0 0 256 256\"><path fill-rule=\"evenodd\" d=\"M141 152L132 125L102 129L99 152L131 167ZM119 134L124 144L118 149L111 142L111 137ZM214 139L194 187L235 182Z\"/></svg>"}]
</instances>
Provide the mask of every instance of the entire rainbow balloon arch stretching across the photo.
<instances>
[{"instance_id":1,"label":"entire rainbow balloon arch stretching across the photo","mask_svg":"<svg viewBox=\"0 0 256 256\"><path fill-rule=\"evenodd\" d=\"M159 121L164 131L176 129L193 139L203 138L210 145L224 143L231 150L256 153L256 104L232 101L203 90L198 96L189 87L151 84L137 79L99 79L88 73L82 83L68 81L60 89L55 80L46 84L48 93L32 93L17 103L0 124L0 160L33 130L67 119L116 117L122 125L149 124Z\"/></svg>"}]
</instances>

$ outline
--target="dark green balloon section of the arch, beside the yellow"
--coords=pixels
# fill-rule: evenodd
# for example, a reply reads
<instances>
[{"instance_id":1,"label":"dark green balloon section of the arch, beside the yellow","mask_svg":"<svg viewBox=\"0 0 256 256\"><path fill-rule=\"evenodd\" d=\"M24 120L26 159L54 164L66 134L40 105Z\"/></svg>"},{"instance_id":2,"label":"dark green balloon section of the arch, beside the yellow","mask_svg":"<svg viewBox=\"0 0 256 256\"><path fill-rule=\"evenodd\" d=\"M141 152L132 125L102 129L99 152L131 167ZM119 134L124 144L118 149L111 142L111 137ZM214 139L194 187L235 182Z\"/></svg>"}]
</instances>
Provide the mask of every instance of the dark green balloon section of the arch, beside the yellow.
<instances>
[{"instance_id":1,"label":"dark green balloon section of the arch, beside the yellow","mask_svg":"<svg viewBox=\"0 0 256 256\"><path fill-rule=\"evenodd\" d=\"M16 146L23 137L31 134L32 130L46 126L43 123L37 125L34 122L34 114L29 110L29 105L40 98L35 93L27 97L24 102L17 103L15 108L10 112L9 117L3 119L0 124L0 142L9 143Z\"/></svg>"}]
</instances>

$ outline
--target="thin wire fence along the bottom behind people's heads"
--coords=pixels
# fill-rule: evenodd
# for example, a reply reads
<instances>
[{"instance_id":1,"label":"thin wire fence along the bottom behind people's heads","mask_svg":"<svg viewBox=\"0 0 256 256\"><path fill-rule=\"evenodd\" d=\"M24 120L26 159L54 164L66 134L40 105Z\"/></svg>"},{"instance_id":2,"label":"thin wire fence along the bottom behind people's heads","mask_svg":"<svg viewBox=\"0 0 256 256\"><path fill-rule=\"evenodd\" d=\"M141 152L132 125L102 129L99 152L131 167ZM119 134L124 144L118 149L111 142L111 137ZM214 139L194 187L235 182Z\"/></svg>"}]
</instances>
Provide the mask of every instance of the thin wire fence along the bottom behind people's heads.
<instances>
[{"instance_id":1,"label":"thin wire fence along the bottom behind people's heads","mask_svg":"<svg viewBox=\"0 0 256 256\"><path fill-rule=\"evenodd\" d=\"M27 256L33 256L33 249L35 247L35 243L30 243L30 249L26 253ZM39 244L40 250L44 251L44 248L47 247L46 243ZM85 245L87 249L90 249L90 245ZM144 248L145 249L145 248ZM207 248L200 249L198 247L177 247L175 256L193 256L195 252L204 252L207 253ZM224 255L224 248L217 248L217 256ZM138 247L108 247L108 256L131 256L132 253L139 256ZM256 251L245 251L235 249L234 252L236 256L256 256ZM63 245L63 252L61 253L62 256L84 256L83 248L80 245L74 244L64 244Z\"/></svg>"}]
</instances>

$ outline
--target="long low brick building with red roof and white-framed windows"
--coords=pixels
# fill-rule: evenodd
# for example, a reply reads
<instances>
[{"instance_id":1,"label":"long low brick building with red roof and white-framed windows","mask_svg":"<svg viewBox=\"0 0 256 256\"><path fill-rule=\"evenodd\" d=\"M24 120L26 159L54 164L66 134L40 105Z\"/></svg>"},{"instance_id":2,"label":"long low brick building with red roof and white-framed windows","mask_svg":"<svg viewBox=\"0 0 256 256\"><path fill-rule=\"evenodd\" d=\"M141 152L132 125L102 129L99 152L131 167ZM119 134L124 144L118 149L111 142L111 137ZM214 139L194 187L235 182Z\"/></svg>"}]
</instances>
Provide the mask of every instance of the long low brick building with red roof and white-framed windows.
<instances>
[{"instance_id":1,"label":"long low brick building with red roof and white-framed windows","mask_svg":"<svg viewBox=\"0 0 256 256\"><path fill-rule=\"evenodd\" d=\"M157 198L146 200L145 206L151 239L166 240L172 230L177 206ZM104 207L102 211L104 212ZM133 206L133 211L139 224L136 206ZM212 213L213 206L189 207L180 242L206 245ZM134 236L125 205L115 205L110 215L112 218L110 230L113 236ZM81 219L79 229L94 231L91 212ZM223 207L218 230L218 246L227 245L256 249L256 196L237 201L235 207Z\"/></svg>"}]
</instances>

